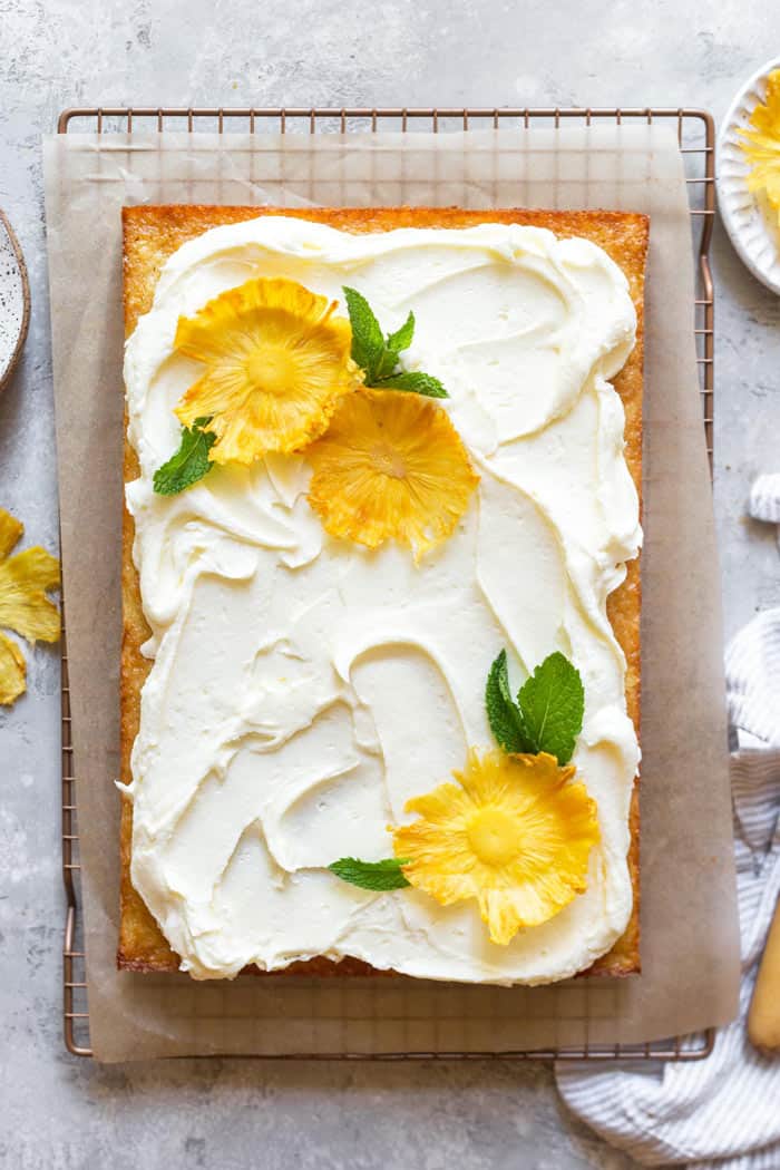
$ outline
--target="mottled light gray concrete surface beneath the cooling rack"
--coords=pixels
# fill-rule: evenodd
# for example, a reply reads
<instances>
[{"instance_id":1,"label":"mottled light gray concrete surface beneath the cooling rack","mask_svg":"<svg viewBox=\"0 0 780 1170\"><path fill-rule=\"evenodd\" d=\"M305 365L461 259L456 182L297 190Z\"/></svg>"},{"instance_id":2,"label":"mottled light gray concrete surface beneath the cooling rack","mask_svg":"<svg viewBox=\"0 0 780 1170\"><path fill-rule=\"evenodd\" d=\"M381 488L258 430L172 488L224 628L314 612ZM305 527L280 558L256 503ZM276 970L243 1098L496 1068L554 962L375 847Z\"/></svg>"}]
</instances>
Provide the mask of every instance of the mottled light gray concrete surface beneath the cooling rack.
<instances>
[{"instance_id":1,"label":"mottled light gray concrete surface beneath the cooling rack","mask_svg":"<svg viewBox=\"0 0 780 1170\"><path fill-rule=\"evenodd\" d=\"M0 206L25 249L29 340L0 394L0 503L57 534L40 135L78 103L698 104L722 116L780 48L751 0L0 0ZM745 501L780 453L780 301L716 234L716 500L726 626L780 600ZM545 1067L99 1068L60 1027L58 669L0 714L0 1165L627 1170ZM106 844L106 847L109 845Z\"/></svg>"}]
</instances>

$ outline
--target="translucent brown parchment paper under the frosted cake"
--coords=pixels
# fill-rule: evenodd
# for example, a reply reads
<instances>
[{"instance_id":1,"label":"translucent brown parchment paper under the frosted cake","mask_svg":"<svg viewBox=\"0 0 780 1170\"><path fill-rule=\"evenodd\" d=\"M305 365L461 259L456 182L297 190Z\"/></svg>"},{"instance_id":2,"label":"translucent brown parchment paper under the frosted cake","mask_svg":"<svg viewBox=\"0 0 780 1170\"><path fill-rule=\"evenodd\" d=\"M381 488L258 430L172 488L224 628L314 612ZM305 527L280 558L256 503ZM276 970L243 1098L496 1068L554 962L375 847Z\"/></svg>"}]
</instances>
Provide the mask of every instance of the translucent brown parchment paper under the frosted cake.
<instances>
[{"instance_id":1,"label":"translucent brown parchment paper under the frosted cake","mask_svg":"<svg viewBox=\"0 0 780 1170\"><path fill-rule=\"evenodd\" d=\"M739 949L690 222L663 126L374 135L67 135L44 143L62 560L91 1040L99 1060L508 1051L729 1020ZM651 216L642 614L642 965L504 989L405 978L194 983L115 966L123 204L603 207Z\"/></svg>"}]
</instances>

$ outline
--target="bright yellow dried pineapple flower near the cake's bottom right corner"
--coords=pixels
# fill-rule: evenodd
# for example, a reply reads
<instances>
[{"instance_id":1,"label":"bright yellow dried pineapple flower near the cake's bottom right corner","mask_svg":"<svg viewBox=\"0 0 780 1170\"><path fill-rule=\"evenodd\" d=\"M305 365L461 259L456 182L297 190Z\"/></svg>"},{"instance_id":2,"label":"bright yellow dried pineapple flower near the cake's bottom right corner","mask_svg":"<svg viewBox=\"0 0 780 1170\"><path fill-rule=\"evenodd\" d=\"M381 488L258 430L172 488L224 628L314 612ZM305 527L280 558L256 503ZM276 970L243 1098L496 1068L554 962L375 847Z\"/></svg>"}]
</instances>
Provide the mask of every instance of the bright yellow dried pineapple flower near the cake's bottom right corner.
<instances>
[{"instance_id":1,"label":"bright yellow dried pineapple flower near the cake's bottom right corner","mask_svg":"<svg viewBox=\"0 0 780 1170\"><path fill-rule=\"evenodd\" d=\"M393 833L403 876L442 906L476 897L492 942L538 927L586 888L595 801L554 756L469 752L457 784L415 797Z\"/></svg>"}]
</instances>

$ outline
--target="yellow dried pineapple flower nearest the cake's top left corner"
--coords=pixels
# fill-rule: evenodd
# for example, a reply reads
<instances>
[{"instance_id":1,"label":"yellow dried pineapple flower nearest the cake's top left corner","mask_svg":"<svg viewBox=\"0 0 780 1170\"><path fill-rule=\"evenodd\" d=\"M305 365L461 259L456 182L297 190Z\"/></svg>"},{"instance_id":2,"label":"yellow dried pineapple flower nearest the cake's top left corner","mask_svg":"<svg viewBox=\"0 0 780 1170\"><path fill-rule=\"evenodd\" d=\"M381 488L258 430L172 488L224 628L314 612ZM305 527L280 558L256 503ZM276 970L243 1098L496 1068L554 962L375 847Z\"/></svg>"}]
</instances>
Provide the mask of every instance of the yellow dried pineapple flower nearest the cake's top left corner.
<instances>
[{"instance_id":1,"label":"yellow dried pineapple flower nearest the cake's top left corner","mask_svg":"<svg viewBox=\"0 0 780 1170\"><path fill-rule=\"evenodd\" d=\"M323 434L360 380L350 323L334 308L295 281L251 280L179 319L174 347L206 370L175 413L186 427L210 419L213 462L250 463Z\"/></svg>"}]
</instances>

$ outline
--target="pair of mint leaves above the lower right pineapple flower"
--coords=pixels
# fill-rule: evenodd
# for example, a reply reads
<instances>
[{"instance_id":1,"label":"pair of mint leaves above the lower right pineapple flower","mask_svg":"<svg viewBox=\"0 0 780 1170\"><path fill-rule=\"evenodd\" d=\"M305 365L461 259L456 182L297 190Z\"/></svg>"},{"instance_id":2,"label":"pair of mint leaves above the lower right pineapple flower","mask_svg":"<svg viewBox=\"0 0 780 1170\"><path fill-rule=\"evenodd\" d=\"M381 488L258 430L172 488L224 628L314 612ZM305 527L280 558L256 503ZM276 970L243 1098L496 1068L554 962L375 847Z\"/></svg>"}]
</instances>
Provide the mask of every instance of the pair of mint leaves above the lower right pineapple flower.
<instances>
[{"instance_id":1,"label":"pair of mint leaves above the lower right pineapple flower","mask_svg":"<svg viewBox=\"0 0 780 1170\"><path fill-rule=\"evenodd\" d=\"M488 721L508 752L546 751L567 764L582 730L585 689L579 670L555 651L536 668L512 698L506 651L490 667L485 687Z\"/></svg>"}]
</instances>

